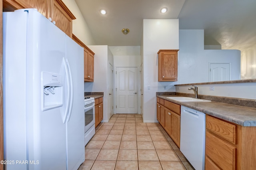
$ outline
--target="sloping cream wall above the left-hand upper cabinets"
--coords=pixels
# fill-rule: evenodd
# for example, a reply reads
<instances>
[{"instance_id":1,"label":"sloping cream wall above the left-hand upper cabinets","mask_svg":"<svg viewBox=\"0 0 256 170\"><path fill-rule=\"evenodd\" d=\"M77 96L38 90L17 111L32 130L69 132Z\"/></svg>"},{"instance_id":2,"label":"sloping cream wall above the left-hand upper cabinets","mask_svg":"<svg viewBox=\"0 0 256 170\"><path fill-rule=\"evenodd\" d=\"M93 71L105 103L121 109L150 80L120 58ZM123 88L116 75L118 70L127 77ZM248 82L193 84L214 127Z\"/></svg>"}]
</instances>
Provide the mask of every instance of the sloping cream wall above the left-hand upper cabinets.
<instances>
[{"instance_id":1,"label":"sloping cream wall above the left-hand upper cabinets","mask_svg":"<svg viewBox=\"0 0 256 170\"><path fill-rule=\"evenodd\" d=\"M64 4L68 7L68 9L74 14L76 17L75 20L72 21L72 32L73 34L79 38L85 45L96 45L94 42L94 38L92 37L91 31L82 16L75 0L62 0Z\"/></svg>"}]
</instances>

